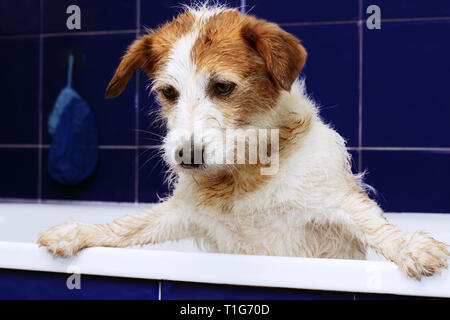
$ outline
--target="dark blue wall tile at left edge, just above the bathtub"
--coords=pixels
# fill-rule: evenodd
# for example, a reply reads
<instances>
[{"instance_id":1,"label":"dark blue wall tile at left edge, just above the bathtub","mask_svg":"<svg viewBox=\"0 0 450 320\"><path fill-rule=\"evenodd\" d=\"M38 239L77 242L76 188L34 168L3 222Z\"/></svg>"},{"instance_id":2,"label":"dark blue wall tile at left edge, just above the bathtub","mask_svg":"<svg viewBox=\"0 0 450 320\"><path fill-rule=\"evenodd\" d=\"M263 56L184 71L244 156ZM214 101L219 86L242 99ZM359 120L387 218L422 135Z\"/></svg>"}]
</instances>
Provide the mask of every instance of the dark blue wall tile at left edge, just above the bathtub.
<instances>
[{"instance_id":1,"label":"dark blue wall tile at left edge, just above the bathtub","mask_svg":"<svg viewBox=\"0 0 450 320\"><path fill-rule=\"evenodd\" d=\"M0 198L37 198L38 150L0 148Z\"/></svg>"}]
</instances>

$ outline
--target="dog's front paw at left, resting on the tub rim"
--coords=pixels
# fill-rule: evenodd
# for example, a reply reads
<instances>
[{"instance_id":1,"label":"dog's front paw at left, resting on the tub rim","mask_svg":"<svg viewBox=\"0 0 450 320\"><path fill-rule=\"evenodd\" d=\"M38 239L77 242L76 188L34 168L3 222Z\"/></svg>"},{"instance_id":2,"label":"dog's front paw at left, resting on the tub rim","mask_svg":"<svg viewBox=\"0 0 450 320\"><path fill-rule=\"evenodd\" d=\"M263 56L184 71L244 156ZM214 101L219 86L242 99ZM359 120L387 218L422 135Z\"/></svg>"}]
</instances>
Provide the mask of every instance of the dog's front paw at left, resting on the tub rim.
<instances>
[{"instance_id":1,"label":"dog's front paw at left, resting on the tub rim","mask_svg":"<svg viewBox=\"0 0 450 320\"><path fill-rule=\"evenodd\" d=\"M45 246L53 256L69 257L86 247L82 224L63 223L54 226L38 239L39 246Z\"/></svg>"}]
</instances>

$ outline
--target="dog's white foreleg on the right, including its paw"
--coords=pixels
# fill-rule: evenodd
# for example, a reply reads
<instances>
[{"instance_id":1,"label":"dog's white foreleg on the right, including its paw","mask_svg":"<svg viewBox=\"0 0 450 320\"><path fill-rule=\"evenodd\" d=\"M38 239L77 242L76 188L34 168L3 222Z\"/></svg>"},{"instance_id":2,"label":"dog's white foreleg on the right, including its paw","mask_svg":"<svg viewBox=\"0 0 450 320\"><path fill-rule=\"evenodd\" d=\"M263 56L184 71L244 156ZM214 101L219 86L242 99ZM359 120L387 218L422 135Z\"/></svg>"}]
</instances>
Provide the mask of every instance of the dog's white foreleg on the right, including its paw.
<instances>
[{"instance_id":1,"label":"dog's white foreleg on the right, including its paw","mask_svg":"<svg viewBox=\"0 0 450 320\"><path fill-rule=\"evenodd\" d=\"M420 280L422 275L431 276L448 267L449 252L444 243L422 231L397 229L386 220L374 201L357 197L345 207L359 230L360 240L396 263L409 276Z\"/></svg>"}]
</instances>

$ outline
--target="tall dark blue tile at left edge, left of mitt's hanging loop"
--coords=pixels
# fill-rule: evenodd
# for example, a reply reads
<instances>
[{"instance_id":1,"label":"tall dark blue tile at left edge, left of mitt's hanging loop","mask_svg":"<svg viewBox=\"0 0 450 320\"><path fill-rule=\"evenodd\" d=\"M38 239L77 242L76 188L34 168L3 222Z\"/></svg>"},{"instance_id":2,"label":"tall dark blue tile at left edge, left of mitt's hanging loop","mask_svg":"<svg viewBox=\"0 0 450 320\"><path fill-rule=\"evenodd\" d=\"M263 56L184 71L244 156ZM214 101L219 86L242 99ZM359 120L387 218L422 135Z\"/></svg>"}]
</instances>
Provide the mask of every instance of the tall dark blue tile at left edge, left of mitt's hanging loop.
<instances>
[{"instance_id":1,"label":"tall dark blue tile at left edge, left of mitt's hanging loop","mask_svg":"<svg viewBox=\"0 0 450 320\"><path fill-rule=\"evenodd\" d=\"M38 142L39 40L0 40L0 143Z\"/></svg>"}]
</instances>

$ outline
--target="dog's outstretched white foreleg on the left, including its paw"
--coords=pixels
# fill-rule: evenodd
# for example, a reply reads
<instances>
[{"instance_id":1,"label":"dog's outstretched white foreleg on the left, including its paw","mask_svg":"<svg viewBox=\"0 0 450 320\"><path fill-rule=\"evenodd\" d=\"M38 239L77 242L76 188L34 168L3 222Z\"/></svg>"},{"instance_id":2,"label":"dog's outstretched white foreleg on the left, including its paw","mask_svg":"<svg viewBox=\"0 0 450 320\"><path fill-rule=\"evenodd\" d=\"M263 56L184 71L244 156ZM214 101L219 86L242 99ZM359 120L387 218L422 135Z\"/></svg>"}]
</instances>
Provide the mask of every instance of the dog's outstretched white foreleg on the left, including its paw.
<instances>
[{"instance_id":1,"label":"dog's outstretched white foreleg on the left, including its paw","mask_svg":"<svg viewBox=\"0 0 450 320\"><path fill-rule=\"evenodd\" d=\"M71 256L87 247L127 247L178 240L189 236L186 209L173 200L140 214L127 215L110 224L64 223L50 228L38 239L54 256Z\"/></svg>"}]
</instances>

